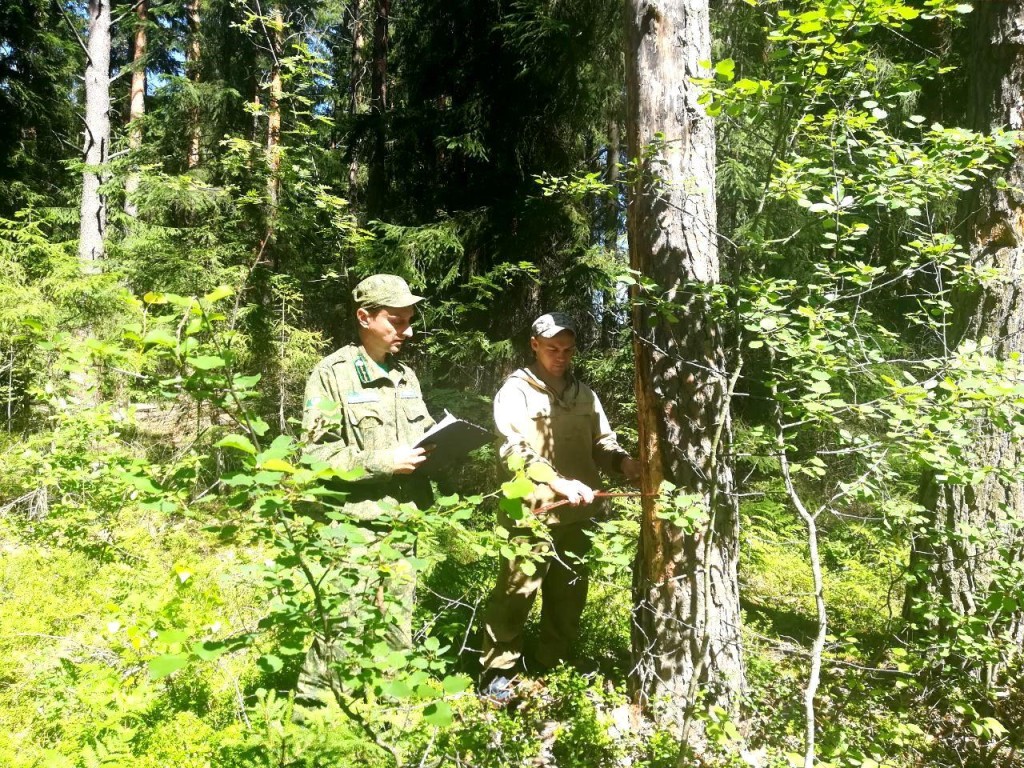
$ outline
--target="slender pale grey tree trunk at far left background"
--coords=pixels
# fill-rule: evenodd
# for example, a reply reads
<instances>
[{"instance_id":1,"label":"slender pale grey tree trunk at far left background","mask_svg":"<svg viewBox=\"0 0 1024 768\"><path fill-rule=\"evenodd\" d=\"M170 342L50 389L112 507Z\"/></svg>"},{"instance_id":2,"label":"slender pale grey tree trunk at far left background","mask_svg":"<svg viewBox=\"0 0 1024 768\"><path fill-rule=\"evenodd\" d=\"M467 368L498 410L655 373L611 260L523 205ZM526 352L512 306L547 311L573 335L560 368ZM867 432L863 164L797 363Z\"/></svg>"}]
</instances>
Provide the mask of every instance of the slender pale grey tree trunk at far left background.
<instances>
[{"instance_id":1,"label":"slender pale grey tree trunk at far left background","mask_svg":"<svg viewBox=\"0 0 1024 768\"><path fill-rule=\"evenodd\" d=\"M111 143L111 4L89 0L85 66L85 170L78 255L85 272L99 270L106 231L106 201L100 193Z\"/></svg>"}]
</instances>

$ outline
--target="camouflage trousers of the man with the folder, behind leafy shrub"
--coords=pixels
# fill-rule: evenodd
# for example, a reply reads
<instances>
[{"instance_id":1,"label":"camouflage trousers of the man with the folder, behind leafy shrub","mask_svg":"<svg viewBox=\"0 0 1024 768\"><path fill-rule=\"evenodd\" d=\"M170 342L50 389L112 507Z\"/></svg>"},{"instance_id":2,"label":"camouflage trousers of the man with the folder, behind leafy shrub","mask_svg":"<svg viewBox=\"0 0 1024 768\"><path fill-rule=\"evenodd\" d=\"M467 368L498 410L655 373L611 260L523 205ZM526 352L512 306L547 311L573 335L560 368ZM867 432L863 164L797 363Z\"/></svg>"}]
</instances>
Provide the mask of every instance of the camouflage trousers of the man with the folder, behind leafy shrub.
<instances>
[{"instance_id":1,"label":"camouflage trousers of the man with the folder, behind leafy shrub","mask_svg":"<svg viewBox=\"0 0 1024 768\"><path fill-rule=\"evenodd\" d=\"M359 659L381 641L391 650L413 645L416 571L408 559L413 548L378 560L371 553L386 531L361 530L367 543L339 552L319 583L323 610L317 609L296 685L300 706L323 707L350 696L353 688L345 680L358 674Z\"/></svg>"}]
</instances>

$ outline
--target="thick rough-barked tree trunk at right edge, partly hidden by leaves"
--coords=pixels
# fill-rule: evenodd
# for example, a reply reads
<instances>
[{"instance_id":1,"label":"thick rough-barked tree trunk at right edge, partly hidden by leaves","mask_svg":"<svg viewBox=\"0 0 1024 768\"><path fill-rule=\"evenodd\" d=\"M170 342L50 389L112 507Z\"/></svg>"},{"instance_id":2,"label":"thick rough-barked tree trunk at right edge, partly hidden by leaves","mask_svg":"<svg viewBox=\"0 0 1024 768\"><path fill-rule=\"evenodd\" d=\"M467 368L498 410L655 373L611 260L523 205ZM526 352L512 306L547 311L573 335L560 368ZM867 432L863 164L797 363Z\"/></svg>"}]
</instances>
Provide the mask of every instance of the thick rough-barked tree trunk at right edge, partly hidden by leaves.
<instances>
[{"instance_id":1,"label":"thick rough-barked tree trunk at right edge, partly hidden by leaves","mask_svg":"<svg viewBox=\"0 0 1024 768\"><path fill-rule=\"evenodd\" d=\"M1024 129L1024 2L978 3L968 23L972 127L981 131ZM1002 360L1024 352L1021 151L1006 177L1009 184L988 179L966 201L974 261L979 267L995 266L999 273L957 307L964 338L980 342L983 351ZM995 425L981 430L975 449L979 466L1014 471L1024 460L1010 431ZM973 486L945 485L930 474L922 483L921 501L928 521L919 530L911 551L916 580L907 593L906 613L923 621L915 606L930 597L942 598L959 615L987 611L986 600L996 587L992 580L997 566L1021 558L1022 540L1014 532L1012 521L1024 515L1024 483L992 472ZM1010 632L1018 645L1024 641L1020 605L1004 610L998 621L989 624L993 636ZM949 629L945 625L939 621L932 629L945 631Z\"/></svg>"}]
</instances>

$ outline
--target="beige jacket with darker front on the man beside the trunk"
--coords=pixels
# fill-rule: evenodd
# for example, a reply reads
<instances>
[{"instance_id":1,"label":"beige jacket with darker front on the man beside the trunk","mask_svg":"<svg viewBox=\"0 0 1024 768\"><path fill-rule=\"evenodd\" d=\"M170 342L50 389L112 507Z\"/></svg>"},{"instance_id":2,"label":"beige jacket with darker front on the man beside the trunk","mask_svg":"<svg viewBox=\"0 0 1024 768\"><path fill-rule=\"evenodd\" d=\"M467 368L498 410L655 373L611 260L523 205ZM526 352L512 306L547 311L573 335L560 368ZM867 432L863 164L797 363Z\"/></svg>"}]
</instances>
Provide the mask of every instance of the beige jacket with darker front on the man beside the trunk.
<instances>
[{"instance_id":1,"label":"beige jacket with darker front on the man beside the trunk","mask_svg":"<svg viewBox=\"0 0 1024 768\"><path fill-rule=\"evenodd\" d=\"M559 397L529 369L514 372L495 395L495 424L505 438L502 458L515 455L531 464L547 464L558 474L597 488L600 471L618 472L628 454L611 431L594 391L570 378ZM559 497L540 484L525 499L531 509ZM542 515L552 525L578 522L600 512L600 503L563 505ZM503 521L507 522L507 521Z\"/></svg>"}]
</instances>

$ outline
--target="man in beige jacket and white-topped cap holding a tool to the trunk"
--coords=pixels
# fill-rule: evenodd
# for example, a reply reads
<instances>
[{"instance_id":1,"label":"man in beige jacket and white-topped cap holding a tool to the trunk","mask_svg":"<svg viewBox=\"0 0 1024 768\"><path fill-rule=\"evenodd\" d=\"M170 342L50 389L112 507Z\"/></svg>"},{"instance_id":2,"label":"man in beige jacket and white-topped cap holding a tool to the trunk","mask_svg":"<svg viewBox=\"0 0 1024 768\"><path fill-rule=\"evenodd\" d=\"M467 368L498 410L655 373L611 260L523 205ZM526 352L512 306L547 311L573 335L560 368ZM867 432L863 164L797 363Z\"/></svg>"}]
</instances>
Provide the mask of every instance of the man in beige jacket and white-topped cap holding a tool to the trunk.
<instances>
[{"instance_id":1,"label":"man in beige jacket and white-topped cap holding a tool to the trunk","mask_svg":"<svg viewBox=\"0 0 1024 768\"><path fill-rule=\"evenodd\" d=\"M546 669L568 656L587 601L588 573L583 557L599 513L594 487L599 470L629 479L640 466L624 451L608 425L601 401L569 371L575 352L575 326L562 312L537 318L530 347L536 359L514 372L495 396L495 422L504 436L501 455L520 457L527 467L547 465L554 477L538 484L524 502L530 511L559 500L540 517L547 536L517 525L507 515L500 523L512 540L530 544L536 568L502 558L498 583L484 615L484 694L505 702L522 655L522 630L530 606L543 591L537 660Z\"/></svg>"}]
</instances>

